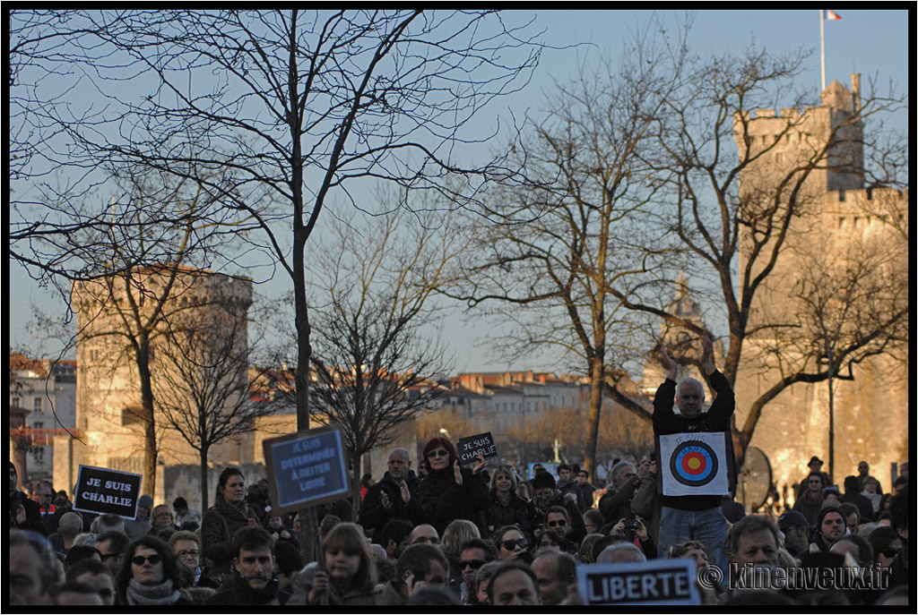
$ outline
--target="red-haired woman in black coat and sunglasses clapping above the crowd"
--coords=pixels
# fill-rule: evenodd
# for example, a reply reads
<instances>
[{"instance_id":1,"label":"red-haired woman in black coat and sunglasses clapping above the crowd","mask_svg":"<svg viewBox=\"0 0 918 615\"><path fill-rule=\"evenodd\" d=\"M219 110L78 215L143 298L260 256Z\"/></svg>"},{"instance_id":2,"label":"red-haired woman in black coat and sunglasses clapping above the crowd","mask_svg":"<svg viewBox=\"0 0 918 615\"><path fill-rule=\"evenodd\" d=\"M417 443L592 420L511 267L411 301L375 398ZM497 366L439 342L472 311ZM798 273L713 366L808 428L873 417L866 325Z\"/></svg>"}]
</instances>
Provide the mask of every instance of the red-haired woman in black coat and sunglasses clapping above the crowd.
<instances>
[{"instance_id":1,"label":"red-haired woman in black coat and sunglasses clapping above the crowd","mask_svg":"<svg viewBox=\"0 0 918 615\"><path fill-rule=\"evenodd\" d=\"M456 448L447 438L436 437L424 446L421 464L427 476L420 483L420 507L425 523L439 535L456 519L467 519L484 525L482 514L487 507L487 485L481 475L485 459L478 457L472 469L459 465Z\"/></svg>"}]
</instances>

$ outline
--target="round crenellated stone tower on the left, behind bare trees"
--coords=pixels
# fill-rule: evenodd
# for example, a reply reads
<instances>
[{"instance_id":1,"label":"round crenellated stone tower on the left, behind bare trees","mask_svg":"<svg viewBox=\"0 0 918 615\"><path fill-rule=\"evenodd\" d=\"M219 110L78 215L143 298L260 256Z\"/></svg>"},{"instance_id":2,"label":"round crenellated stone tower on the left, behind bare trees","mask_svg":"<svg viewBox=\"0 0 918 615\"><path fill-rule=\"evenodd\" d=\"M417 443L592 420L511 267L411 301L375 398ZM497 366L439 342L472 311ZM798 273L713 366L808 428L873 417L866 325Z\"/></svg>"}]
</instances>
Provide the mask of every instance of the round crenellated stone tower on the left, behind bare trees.
<instances>
[{"instance_id":1,"label":"round crenellated stone tower on the left, behind bare trees","mask_svg":"<svg viewBox=\"0 0 918 615\"><path fill-rule=\"evenodd\" d=\"M167 297L161 305L161 298ZM55 480L72 485L80 464L142 472L140 377L134 361L138 323L155 324L150 333L150 368L157 365L170 327L191 322L228 324L238 332L233 344L248 345L247 311L252 304L252 280L202 269L163 265L132 269L127 274L100 277L73 286L77 314L76 426L82 443L67 443L67 467L55 468ZM241 378L247 379L245 369ZM158 427L159 465L198 464L197 453L181 436ZM57 445L57 443L55 443ZM232 443L217 447L212 459L239 460ZM57 454L57 449L55 449ZM57 464L55 464L57 466ZM72 473L67 481L66 474ZM157 494L161 493L157 480ZM161 500L157 500L161 501Z\"/></svg>"}]
</instances>

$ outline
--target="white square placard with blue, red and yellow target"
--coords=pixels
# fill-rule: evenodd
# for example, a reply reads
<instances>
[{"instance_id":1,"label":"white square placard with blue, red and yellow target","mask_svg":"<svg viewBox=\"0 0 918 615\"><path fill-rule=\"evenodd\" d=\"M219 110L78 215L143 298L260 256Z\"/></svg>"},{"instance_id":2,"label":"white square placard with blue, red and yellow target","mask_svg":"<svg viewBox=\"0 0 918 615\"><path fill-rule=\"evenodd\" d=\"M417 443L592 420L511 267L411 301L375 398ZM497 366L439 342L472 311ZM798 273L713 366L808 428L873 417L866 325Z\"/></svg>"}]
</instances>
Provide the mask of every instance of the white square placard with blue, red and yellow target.
<instances>
[{"instance_id":1,"label":"white square placard with blue, red and yellow target","mask_svg":"<svg viewBox=\"0 0 918 615\"><path fill-rule=\"evenodd\" d=\"M658 436L663 495L730 494L726 434L699 432Z\"/></svg>"}]
</instances>

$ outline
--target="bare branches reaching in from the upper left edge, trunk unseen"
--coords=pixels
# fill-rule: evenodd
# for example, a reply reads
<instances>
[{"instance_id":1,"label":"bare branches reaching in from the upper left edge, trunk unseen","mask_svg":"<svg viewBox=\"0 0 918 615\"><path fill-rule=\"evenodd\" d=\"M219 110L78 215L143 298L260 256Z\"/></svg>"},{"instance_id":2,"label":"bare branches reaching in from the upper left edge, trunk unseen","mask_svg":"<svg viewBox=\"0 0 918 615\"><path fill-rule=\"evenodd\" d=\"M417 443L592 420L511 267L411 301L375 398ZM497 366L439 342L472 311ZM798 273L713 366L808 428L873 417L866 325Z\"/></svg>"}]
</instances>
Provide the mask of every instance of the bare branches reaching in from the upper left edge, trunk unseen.
<instances>
[{"instance_id":1,"label":"bare branches reaching in from the upper left edge, trunk unseen","mask_svg":"<svg viewBox=\"0 0 918 615\"><path fill-rule=\"evenodd\" d=\"M192 254L215 269L207 255L234 213L212 189L205 194L198 185L194 206L187 192L196 183L190 178L207 177L212 187L225 183L227 170L191 170L194 155L188 155L184 169L163 173L99 148L87 151L82 132L108 138L109 128L117 131L98 100L106 80L94 66L118 71L106 63L112 49L99 38L101 27L79 11L10 11L8 17L11 260L68 306L74 282L101 275ZM193 133L185 134L192 148ZM167 138L162 146L180 156L182 144Z\"/></svg>"}]
</instances>

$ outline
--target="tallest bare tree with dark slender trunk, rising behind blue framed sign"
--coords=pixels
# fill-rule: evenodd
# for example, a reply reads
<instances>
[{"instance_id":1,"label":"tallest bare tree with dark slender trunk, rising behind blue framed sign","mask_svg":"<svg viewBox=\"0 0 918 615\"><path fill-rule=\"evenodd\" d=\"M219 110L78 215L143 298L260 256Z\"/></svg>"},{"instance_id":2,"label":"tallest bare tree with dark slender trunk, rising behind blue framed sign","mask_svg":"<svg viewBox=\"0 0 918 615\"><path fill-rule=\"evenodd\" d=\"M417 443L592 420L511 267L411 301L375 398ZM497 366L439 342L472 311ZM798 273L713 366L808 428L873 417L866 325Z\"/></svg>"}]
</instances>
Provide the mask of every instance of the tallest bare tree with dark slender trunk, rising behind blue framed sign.
<instances>
[{"instance_id":1,"label":"tallest bare tree with dark slender trunk, rising behind blue framed sign","mask_svg":"<svg viewBox=\"0 0 918 615\"><path fill-rule=\"evenodd\" d=\"M460 149L484 138L467 125L528 81L539 46L526 24L510 26L491 11L81 16L92 43L68 51L91 67L97 115L73 123L52 114L50 123L66 126L78 148L72 158L86 163L129 160L182 176L228 171L231 179L205 179L211 194L223 203L230 195L227 209L259 227L247 236L247 255L267 255L293 284L297 422L306 429L306 245L328 199L355 203L351 191L375 181L442 190L449 174L474 194L504 168L500 157L464 164ZM303 519L313 558L318 532Z\"/></svg>"}]
</instances>

